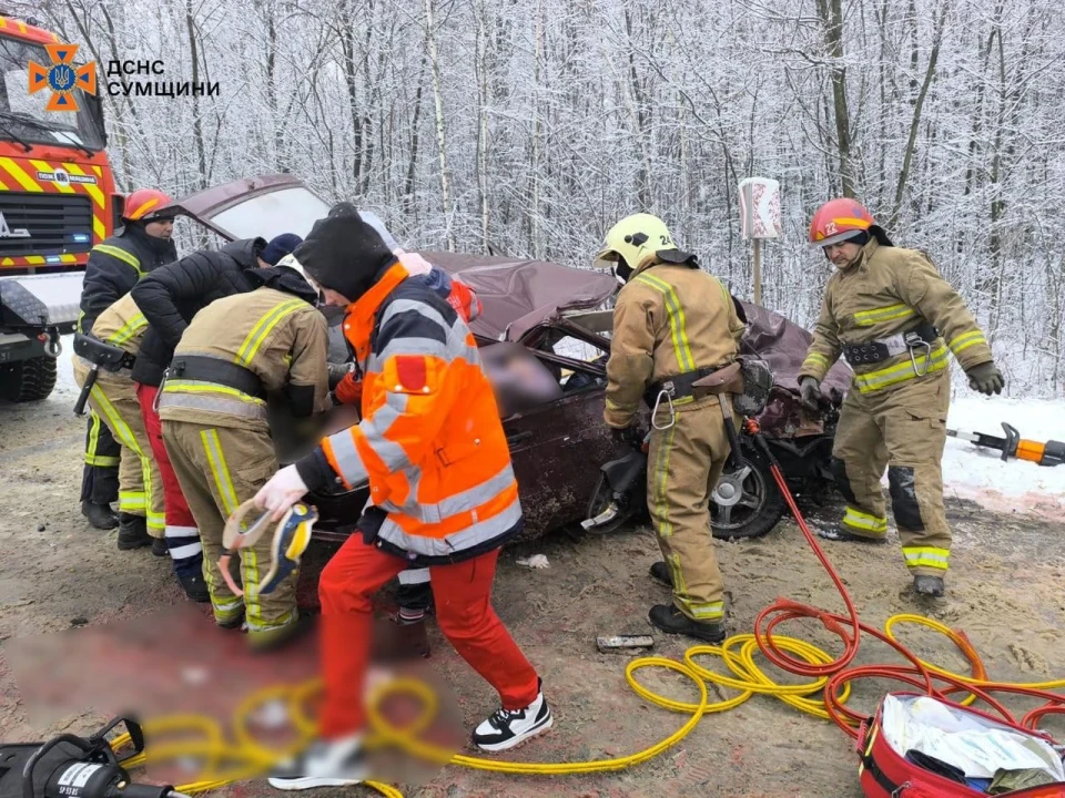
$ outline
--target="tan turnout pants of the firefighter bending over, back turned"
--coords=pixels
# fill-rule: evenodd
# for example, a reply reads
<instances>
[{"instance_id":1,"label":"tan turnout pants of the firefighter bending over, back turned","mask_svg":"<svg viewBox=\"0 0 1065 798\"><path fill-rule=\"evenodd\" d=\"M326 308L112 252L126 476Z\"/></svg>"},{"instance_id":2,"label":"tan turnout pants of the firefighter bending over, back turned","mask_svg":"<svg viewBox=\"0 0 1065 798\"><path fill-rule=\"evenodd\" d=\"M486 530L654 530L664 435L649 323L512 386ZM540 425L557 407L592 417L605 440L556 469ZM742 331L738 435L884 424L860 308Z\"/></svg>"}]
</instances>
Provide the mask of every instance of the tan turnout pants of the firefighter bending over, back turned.
<instances>
[{"instance_id":1,"label":"tan turnout pants of the firefighter bending over, back turned","mask_svg":"<svg viewBox=\"0 0 1065 798\"><path fill-rule=\"evenodd\" d=\"M169 419L162 423L170 462L200 530L203 579L211 593L215 621L229 623L244 613L247 633L253 638L268 637L295 623L298 570L273 593L261 595L258 592L270 571L272 532L239 552L243 600L229 589L219 567L226 519L253 498L277 470L266 423L256 430Z\"/></svg>"}]
</instances>

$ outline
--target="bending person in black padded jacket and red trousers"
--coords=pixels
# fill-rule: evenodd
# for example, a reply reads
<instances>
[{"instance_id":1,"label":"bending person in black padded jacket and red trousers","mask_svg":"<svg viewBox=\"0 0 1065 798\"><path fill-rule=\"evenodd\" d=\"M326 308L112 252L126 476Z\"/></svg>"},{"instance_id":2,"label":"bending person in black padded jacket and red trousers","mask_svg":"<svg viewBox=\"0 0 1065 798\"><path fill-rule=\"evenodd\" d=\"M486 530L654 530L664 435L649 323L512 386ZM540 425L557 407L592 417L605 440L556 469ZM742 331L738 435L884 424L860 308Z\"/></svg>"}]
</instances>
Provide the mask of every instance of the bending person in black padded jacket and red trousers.
<instances>
[{"instance_id":1,"label":"bending person in black padded jacket and red trousers","mask_svg":"<svg viewBox=\"0 0 1065 798\"><path fill-rule=\"evenodd\" d=\"M133 381L152 452L162 474L165 539L174 561L174 573L193 597L206 596L203 548L196 522L163 446L155 397L163 372L192 317L215 299L253 290L257 284L250 278L250 270L276 265L301 242L300 236L285 233L270 244L263 238L245 238L231 242L217 252L202 249L149 275L133 289L133 301L149 324L133 364Z\"/></svg>"}]
</instances>

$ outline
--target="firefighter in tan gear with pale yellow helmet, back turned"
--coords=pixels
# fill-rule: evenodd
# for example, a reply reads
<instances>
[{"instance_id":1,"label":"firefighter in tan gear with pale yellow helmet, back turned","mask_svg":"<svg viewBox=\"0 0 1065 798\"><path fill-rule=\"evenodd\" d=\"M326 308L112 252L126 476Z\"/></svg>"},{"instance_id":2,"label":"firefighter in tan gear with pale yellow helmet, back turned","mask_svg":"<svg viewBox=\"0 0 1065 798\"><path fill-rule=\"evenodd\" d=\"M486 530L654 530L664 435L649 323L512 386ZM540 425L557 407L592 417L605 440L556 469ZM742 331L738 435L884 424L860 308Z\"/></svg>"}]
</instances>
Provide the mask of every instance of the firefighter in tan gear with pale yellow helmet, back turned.
<instances>
[{"instance_id":1,"label":"firefighter in tan gear with pale yellow helmet, back turned","mask_svg":"<svg viewBox=\"0 0 1065 798\"><path fill-rule=\"evenodd\" d=\"M710 536L710 494L729 456L716 397L694 399L692 383L732 362L744 325L729 291L683 252L666 224L635 214L607 233L596 258L623 284L613 309L604 419L631 439L640 400L658 406L648 452L648 505L663 562L651 576L673 590L651 607L670 634L724 638L724 583Z\"/></svg>"}]
</instances>

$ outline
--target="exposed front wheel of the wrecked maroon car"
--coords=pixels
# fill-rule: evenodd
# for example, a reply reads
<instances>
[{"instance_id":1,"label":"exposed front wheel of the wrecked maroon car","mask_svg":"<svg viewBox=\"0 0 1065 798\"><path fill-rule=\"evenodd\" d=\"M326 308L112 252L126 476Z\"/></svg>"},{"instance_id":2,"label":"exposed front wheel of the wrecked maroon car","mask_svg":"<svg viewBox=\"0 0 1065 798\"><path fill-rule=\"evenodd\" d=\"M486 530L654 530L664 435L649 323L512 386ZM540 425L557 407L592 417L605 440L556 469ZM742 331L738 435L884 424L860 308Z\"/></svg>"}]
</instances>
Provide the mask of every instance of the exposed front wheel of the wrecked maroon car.
<instances>
[{"instance_id":1,"label":"exposed front wheel of the wrecked maroon car","mask_svg":"<svg viewBox=\"0 0 1065 798\"><path fill-rule=\"evenodd\" d=\"M765 456L743 448L740 473L728 470L710 498L710 526L718 540L760 538L784 514L784 497Z\"/></svg>"}]
</instances>

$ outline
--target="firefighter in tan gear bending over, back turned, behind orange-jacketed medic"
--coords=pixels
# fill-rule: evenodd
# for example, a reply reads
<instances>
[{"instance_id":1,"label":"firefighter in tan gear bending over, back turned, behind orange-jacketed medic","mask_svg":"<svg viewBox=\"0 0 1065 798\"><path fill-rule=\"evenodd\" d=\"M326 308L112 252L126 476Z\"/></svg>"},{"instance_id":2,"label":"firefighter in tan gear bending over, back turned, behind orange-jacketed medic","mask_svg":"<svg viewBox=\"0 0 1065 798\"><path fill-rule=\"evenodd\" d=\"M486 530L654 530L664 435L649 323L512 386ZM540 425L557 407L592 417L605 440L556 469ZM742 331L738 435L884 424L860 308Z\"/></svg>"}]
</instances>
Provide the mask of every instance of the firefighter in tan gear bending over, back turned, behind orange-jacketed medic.
<instances>
[{"instance_id":1,"label":"firefighter in tan gear bending over, back turned, behind orange-jacketed medic","mask_svg":"<svg viewBox=\"0 0 1065 798\"><path fill-rule=\"evenodd\" d=\"M296 610L297 573L261 594L271 538L240 551L243 600L219 566L226 519L277 470L266 420L267 392L307 419L328 407L325 317L317 291L284 267L252 268L257 287L201 309L182 332L159 392L170 462L203 545L215 622L244 626L253 649L276 648L307 628Z\"/></svg>"}]
</instances>

